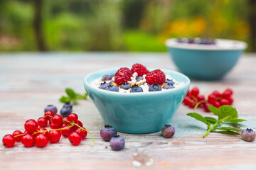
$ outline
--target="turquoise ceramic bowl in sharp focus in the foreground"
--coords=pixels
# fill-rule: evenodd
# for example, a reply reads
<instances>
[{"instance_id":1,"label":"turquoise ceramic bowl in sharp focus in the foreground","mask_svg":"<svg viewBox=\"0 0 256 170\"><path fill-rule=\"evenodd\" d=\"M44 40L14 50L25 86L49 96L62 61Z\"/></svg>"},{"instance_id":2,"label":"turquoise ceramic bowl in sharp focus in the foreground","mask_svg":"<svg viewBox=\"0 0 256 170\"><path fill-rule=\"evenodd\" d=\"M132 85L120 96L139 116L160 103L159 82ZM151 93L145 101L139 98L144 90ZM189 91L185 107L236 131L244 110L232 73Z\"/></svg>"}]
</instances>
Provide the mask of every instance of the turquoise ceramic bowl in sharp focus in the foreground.
<instances>
[{"instance_id":1,"label":"turquoise ceramic bowl in sharp focus in the foreground","mask_svg":"<svg viewBox=\"0 0 256 170\"><path fill-rule=\"evenodd\" d=\"M190 80L185 75L167 69L161 70L176 81L183 82L183 85L168 91L134 94L105 91L92 86L93 80L117 72L117 69L106 69L87 75L84 86L105 125L112 125L119 132L156 132L171 122L190 85Z\"/></svg>"}]
</instances>

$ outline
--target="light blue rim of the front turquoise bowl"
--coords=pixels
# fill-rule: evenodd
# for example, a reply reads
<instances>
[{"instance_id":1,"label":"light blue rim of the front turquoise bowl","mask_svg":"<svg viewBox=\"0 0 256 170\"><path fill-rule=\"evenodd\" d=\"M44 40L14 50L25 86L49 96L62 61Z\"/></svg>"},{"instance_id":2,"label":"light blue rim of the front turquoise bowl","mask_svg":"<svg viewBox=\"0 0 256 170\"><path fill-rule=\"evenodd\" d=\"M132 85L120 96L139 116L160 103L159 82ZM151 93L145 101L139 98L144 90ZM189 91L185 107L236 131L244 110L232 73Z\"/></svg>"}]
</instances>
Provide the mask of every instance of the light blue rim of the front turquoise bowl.
<instances>
[{"instance_id":1,"label":"light blue rim of the front turquoise bowl","mask_svg":"<svg viewBox=\"0 0 256 170\"><path fill-rule=\"evenodd\" d=\"M90 74L88 74L85 78L84 78L84 86L85 86L85 89L91 89L92 91L95 91L95 92L98 92L100 94L107 94L107 95L110 95L110 96L120 96L120 97L134 97L134 96L157 96L157 95L161 95L161 94L171 94L173 93L174 91L180 91L181 89L184 89L186 86L190 86L191 84L191 81L188 77L186 77L185 74L182 74L180 72L176 72L176 71L173 71L171 69L161 69L162 72L171 72L171 73L174 73L174 74L178 74L178 76L181 76L183 78L186 79L186 82L184 82L184 84L182 84L181 86L177 86L176 88L174 89L171 89L169 91L154 91L152 93L119 93L119 92L114 92L114 91L105 91L105 90L102 90L102 89L97 89L93 86L91 86L91 84L89 82L87 82L87 78L88 77L91 77L93 74L97 74L97 73L100 73L100 72L110 72L110 71L117 71L119 68L111 68L111 69L100 69L96 72L92 72ZM149 68L149 70L154 70L156 68ZM166 74L166 73L165 73ZM103 76L103 75L102 75ZM99 77L100 78L100 77ZM173 91L173 92L172 92Z\"/></svg>"}]
</instances>

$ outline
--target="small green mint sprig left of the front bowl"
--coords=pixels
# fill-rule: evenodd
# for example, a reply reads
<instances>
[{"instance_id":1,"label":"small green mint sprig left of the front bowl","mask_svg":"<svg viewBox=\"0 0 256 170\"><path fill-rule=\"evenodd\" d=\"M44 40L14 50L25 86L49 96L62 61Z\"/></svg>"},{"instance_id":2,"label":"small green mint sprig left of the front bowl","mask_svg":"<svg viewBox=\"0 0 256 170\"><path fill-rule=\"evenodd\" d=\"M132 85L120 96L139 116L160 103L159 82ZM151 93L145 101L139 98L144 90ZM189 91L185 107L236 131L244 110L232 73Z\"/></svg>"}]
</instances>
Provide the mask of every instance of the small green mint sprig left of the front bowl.
<instances>
[{"instance_id":1,"label":"small green mint sprig left of the front bowl","mask_svg":"<svg viewBox=\"0 0 256 170\"><path fill-rule=\"evenodd\" d=\"M87 93L85 93L84 95L75 93L75 91L70 88L65 89L65 92L66 92L67 96L61 96L61 98L59 99L59 101L61 103L71 102L75 105L75 104L78 104L77 100L80 100L80 99L86 100L87 96L88 96Z\"/></svg>"}]
</instances>

